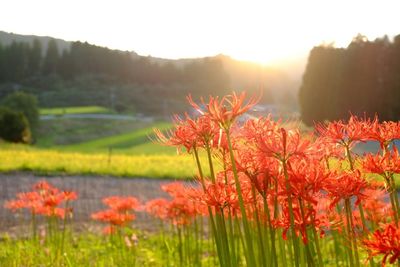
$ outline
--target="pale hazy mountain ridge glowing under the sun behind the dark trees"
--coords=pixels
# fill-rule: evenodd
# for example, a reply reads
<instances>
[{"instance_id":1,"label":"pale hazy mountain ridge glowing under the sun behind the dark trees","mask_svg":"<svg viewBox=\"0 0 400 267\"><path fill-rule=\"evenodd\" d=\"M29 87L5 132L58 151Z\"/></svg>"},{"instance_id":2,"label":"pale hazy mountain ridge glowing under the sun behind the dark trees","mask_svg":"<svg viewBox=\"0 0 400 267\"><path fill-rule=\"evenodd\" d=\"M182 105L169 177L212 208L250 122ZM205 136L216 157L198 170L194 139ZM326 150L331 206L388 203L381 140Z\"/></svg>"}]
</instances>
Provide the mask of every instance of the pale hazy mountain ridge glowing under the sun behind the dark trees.
<instances>
[{"instance_id":1,"label":"pale hazy mountain ridge glowing under the sun behind the dark trees","mask_svg":"<svg viewBox=\"0 0 400 267\"><path fill-rule=\"evenodd\" d=\"M27 42L32 44L35 39L38 39L41 42L43 55L45 54L47 44L51 39L54 39L56 41L60 53L62 53L63 50L70 49L71 45L74 43L74 41L66 41L50 36L22 35L0 31L0 44L4 46L10 45L13 41ZM218 54L207 57L168 59L153 56L142 56L134 51L122 51L119 49L110 50L119 51L121 53L129 52L132 58L146 57L152 63L160 65L174 64L175 66L185 66L186 64L192 62L198 62L207 59L219 59L231 79L232 89L246 90L247 88L267 88L270 93L272 93L274 99L284 98L285 95L288 94L288 92L295 97L295 94L300 87L301 75L306 60L302 59L299 61L300 63L289 62L284 66L275 67L262 65L251 61L237 60L225 54Z\"/></svg>"}]
</instances>

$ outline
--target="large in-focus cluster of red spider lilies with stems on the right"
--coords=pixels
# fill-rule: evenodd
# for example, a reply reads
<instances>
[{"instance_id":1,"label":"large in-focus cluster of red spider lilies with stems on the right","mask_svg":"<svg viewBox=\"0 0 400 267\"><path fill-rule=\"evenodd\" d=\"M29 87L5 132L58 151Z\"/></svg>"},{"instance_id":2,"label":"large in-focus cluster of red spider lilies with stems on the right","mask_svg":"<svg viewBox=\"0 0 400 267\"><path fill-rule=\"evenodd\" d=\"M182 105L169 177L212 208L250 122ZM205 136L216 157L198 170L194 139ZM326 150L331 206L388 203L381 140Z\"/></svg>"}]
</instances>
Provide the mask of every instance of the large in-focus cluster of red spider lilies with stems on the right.
<instances>
[{"instance_id":1,"label":"large in-focus cluster of red spider lilies with stems on the right","mask_svg":"<svg viewBox=\"0 0 400 267\"><path fill-rule=\"evenodd\" d=\"M362 241L366 233L379 229L382 223L397 225L399 203L394 175L400 172L400 157L396 148L391 149L391 143L400 138L400 123L381 123L377 118L351 116L348 121L319 124L315 133L306 134L290 124L273 121L270 116L250 119L239 125L237 118L255 104L254 99L247 104L244 100L244 93L221 99L210 97L208 102L202 100L205 109L201 109L189 97L190 104L201 114L197 122L187 116L185 120L179 120L169 137L159 134L163 144L183 145L189 152L206 148L210 175L205 176L202 164L197 162L201 186L196 190L174 186L167 192L171 193L173 189L174 194L179 195L177 199L185 205L190 203L193 210L206 206L203 209L206 212L198 215L210 216L215 222L212 227L216 240L227 240L226 244L217 244L217 248L225 246L229 249L233 242L229 241L234 239L230 233L235 230L227 230L232 224L230 220L241 221L246 242L244 248L248 248L244 253L249 265L258 260L252 259L252 237L246 237L251 231L260 231L261 241L257 242L261 243L265 234L260 230L262 227L280 231L284 238L290 237L295 260L299 257L296 253L300 253L297 237L319 251L316 233L323 236L326 232L337 232L344 235L343 242L348 242L354 250L347 259L352 265L359 260L359 239ZM180 134L181 128L185 129L187 139ZM182 140L177 141L178 136ZM185 143L188 140L191 141ZM212 140L224 143L223 149L220 145L213 146ZM381 152L365 157L353 154L354 145L366 141L379 142ZM219 172L214 171L215 159L223 167ZM383 176L384 185L377 183L369 173ZM387 196L390 203L384 201ZM166 200L156 200L147 207L159 218L166 219L171 218L165 208L168 205L171 204ZM377 230L376 233L387 231ZM274 248L275 244L271 242L275 239L271 240L264 242ZM386 255L392 255L390 262L397 260L398 254L392 248L383 247L382 250L387 250ZM221 250L220 253L225 252ZM276 255L277 252L271 253ZM307 253L308 263L314 264L314 258L309 251ZM379 253L384 254L383 251ZM374 255L377 253L371 254ZM231 264L228 259L220 260Z\"/></svg>"}]
</instances>

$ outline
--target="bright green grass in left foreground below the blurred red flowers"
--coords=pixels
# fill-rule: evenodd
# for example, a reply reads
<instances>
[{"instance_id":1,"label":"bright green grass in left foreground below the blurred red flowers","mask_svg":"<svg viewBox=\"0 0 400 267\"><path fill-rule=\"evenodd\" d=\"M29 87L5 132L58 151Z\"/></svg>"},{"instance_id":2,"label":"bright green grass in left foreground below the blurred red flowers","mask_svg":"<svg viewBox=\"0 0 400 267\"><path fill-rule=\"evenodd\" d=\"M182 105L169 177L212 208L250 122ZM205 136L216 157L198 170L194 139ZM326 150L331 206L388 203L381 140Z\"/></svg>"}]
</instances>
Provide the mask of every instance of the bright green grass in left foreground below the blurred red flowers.
<instances>
[{"instance_id":1,"label":"bright green grass in left foreground below the blurred red flowers","mask_svg":"<svg viewBox=\"0 0 400 267\"><path fill-rule=\"evenodd\" d=\"M156 223L156 222L152 222ZM124 243L116 237L102 236L99 232L71 233L65 238L63 253L57 243L42 239L41 243L27 238L11 238L7 234L0 236L0 266L93 266L93 267L161 267L187 266L180 262L179 239L170 233L146 233L129 229L131 235L125 235ZM125 242L133 237L137 240L128 247ZM191 234L189 245L191 254L199 253L196 241ZM49 238L48 238L49 239ZM128 239L129 240L129 239ZM186 241L186 240L185 240ZM215 266L215 253L210 240L201 240L203 266Z\"/></svg>"}]
</instances>

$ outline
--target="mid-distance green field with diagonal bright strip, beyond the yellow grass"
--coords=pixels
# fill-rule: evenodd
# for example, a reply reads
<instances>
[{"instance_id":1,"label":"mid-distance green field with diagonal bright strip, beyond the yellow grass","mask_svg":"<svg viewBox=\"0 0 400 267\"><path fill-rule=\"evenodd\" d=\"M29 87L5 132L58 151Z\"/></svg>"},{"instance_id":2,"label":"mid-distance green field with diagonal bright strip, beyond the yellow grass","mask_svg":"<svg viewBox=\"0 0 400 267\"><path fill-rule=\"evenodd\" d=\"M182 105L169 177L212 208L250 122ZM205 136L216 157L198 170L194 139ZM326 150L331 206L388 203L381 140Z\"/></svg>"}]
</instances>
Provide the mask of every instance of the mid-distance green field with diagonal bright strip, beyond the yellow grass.
<instances>
[{"instance_id":1,"label":"mid-distance green field with diagonal bright strip, beyond the yellow grass","mask_svg":"<svg viewBox=\"0 0 400 267\"><path fill-rule=\"evenodd\" d=\"M123 154L176 154L170 147L155 145L150 136L153 129L171 127L166 122L98 120L98 119L55 119L42 121L38 148L68 152Z\"/></svg>"}]
</instances>

